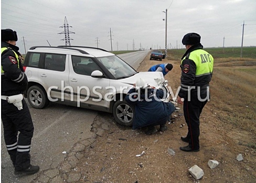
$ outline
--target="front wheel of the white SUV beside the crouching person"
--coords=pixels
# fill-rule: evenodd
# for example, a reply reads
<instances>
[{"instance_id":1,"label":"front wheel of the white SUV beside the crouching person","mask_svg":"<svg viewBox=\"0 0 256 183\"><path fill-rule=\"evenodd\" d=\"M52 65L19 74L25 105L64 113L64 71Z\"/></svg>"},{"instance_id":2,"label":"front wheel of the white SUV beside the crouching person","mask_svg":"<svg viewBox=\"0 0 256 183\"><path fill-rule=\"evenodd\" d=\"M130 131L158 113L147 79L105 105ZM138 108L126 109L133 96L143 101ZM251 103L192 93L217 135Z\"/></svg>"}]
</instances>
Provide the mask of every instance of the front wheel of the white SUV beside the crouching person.
<instances>
[{"instance_id":1,"label":"front wheel of the white SUV beside the crouching person","mask_svg":"<svg viewBox=\"0 0 256 183\"><path fill-rule=\"evenodd\" d=\"M127 127L132 126L134 111L134 106L125 100L118 100L113 106L113 116L115 121Z\"/></svg>"}]
</instances>

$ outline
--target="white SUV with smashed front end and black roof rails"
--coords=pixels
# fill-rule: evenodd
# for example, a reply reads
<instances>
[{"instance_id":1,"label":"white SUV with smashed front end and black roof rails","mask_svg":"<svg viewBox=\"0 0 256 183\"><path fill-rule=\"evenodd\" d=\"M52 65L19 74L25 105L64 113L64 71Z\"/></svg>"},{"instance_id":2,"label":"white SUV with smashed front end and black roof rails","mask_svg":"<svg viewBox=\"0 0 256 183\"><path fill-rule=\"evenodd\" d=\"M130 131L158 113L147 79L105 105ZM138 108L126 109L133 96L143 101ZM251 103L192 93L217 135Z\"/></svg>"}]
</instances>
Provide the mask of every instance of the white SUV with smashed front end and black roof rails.
<instances>
[{"instance_id":1,"label":"white SUV with smashed front end and black roof rails","mask_svg":"<svg viewBox=\"0 0 256 183\"><path fill-rule=\"evenodd\" d=\"M134 107L125 95L138 78L163 89L169 100L167 81L161 72L136 72L129 64L106 50L91 47L32 47L24 70L25 93L31 106L49 102L111 112L119 124L130 126Z\"/></svg>"}]
</instances>

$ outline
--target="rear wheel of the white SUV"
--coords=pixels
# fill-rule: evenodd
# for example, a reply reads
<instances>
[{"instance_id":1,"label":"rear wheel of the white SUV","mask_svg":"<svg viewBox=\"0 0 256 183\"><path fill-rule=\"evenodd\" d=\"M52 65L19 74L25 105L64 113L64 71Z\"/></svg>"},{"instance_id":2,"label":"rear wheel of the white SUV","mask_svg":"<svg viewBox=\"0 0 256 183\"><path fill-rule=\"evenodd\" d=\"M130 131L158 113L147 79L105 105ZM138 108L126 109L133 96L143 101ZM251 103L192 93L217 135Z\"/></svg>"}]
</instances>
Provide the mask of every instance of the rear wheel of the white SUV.
<instances>
[{"instance_id":1,"label":"rear wheel of the white SUV","mask_svg":"<svg viewBox=\"0 0 256 183\"><path fill-rule=\"evenodd\" d=\"M29 104L36 109L42 109L49 104L45 89L39 85L33 85L28 88L27 99Z\"/></svg>"}]
</instances>

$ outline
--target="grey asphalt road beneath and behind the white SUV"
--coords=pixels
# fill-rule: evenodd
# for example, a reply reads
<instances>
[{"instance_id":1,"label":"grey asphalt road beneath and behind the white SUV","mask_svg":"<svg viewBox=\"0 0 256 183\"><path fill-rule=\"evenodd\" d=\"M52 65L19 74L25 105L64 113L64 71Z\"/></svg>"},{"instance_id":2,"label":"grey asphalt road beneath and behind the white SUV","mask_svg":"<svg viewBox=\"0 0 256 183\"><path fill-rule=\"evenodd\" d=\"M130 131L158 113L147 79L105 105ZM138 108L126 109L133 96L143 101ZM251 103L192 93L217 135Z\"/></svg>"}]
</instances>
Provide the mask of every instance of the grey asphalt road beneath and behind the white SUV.
<instances>
[{"instance_id":1,"label":"grey asphalt road beneath and behind the white SUV","mask_svg":"<svg viewBox=\"0 0 256 183\"><path fill-rule=\"evenodd\" d=\"M136 70L147 53L148 50L118 56ZM98 111L52 103L45 109L34 109L27 104L35 127L30 149L31 164L40 166L40 171L57 168L66 158L65 152L70 152L77 142L95 136L91 127ZM33 182L36 176L14 175L1 123L1 182Z\"/></svg>"}]
</instances>

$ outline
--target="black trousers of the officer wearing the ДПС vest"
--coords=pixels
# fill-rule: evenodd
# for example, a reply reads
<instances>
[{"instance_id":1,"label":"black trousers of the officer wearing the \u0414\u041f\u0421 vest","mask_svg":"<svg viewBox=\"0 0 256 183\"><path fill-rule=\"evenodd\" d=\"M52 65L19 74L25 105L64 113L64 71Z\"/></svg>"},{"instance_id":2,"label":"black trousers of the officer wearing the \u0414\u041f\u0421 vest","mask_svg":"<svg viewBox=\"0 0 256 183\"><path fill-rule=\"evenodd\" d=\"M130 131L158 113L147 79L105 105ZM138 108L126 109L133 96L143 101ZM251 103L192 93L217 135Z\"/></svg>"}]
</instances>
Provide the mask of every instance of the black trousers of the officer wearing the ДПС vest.
<instances>
[{"instance_id":1,"label":"black trousers of the officer wearing the \u0414\u041f\u0421 vest","mask_svg":"<svg viewBox=\"0 0 256 183\"><path fill-rule=\"evenodd\" d=\"M189 139L188 145L195 150L198 150L200 148L199 117L206 103L207 103L207 100L199 101L197 96L191 96L190 101L188 101L188 99L186 98L183 104L184 117L188 126L188 133L187 133L187 139Z\"/></svg>"}]
</instances>

